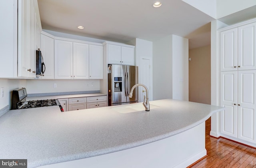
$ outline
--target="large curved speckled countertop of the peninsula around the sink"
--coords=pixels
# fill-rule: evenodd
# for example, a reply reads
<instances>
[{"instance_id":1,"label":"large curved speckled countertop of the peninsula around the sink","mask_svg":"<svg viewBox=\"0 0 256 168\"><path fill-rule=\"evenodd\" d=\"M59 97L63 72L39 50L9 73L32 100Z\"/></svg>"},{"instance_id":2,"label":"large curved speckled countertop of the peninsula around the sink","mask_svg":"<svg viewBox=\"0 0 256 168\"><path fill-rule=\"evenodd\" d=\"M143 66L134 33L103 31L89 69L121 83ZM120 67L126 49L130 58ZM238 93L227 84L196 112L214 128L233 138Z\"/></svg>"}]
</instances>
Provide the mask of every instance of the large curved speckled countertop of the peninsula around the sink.
<instances>
[{"instance_id":1,"label":"large curved speckled countertop of the peninsula around the sink","mask_svg":"<svg viewBox=\"0 0 256 168\"><path fill-rule=\"evenodd\" d=\"M68 112L58 106L10 110L0 117L0 158L28 159L28 168L33 168L98 156L173 136L224 109L172 99L150 104L159 107L126 114L113 106Z\"/></svg>"}]
</instances>

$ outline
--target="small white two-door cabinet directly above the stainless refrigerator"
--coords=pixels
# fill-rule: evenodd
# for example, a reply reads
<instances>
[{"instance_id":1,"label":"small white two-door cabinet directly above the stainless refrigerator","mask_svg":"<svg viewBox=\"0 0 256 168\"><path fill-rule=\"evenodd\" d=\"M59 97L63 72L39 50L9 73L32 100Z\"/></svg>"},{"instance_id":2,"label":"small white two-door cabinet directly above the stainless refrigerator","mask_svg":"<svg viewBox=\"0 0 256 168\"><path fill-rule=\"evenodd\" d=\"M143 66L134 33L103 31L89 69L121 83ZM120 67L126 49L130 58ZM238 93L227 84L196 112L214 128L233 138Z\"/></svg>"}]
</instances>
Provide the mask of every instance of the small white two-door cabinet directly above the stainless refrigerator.
<instances>
[{"instance_id":1,"label":"small white two-door cabinet directly above the stainless refrigerator","mask_svg":"<svg viewBox=\"0 0 256 168\"><path fill-rule=\"evenodd\" d=\"M134 46L114 42L103 44L108 64L134 65Z\"/></svg>"}]
</instances>

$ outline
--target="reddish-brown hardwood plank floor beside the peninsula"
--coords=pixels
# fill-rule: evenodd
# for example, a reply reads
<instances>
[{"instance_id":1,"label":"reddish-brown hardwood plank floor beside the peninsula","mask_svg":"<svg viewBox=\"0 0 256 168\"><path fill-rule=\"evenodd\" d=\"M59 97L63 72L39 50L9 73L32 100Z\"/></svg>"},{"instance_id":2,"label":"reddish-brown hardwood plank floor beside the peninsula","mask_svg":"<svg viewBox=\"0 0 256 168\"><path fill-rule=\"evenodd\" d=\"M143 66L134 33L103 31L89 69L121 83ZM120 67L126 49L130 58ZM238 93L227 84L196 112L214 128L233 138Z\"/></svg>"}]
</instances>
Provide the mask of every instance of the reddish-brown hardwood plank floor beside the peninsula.
<instances>
[{"instance_id":1,"label":"reddish-brown hardwood plank floor beside the peninsula","mask_svg":"<svg viewBox=\"0 0 256 168\"><path fill-rule=\"evenodd\" d=\"M206 120L206 158L189 168L256 168L256 149L224 138L210 137L210 118Z\"/></svg>"}]
</instances>

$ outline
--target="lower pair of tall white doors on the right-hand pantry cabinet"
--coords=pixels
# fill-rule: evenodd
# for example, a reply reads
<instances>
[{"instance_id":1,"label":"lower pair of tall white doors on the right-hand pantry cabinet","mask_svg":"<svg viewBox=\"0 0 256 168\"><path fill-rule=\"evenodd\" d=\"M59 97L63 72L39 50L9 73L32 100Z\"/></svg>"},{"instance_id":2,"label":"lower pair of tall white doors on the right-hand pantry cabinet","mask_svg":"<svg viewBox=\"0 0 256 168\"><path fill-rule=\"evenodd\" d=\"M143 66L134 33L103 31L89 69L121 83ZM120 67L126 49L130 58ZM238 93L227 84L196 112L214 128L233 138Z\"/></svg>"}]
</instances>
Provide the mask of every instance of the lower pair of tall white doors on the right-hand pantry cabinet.
<instances>
[{"instance_id":1,"label":"lower pair of tall white doors on the right-hand pantry cabinet","mask_svg":"<svg viewBox=\"0 0 256 168\"><path fill-rule=\"evenodd\" d=\"M255 88L256 70L221 72L222 136L256 143Z\"/></svg>"}]
</instances>

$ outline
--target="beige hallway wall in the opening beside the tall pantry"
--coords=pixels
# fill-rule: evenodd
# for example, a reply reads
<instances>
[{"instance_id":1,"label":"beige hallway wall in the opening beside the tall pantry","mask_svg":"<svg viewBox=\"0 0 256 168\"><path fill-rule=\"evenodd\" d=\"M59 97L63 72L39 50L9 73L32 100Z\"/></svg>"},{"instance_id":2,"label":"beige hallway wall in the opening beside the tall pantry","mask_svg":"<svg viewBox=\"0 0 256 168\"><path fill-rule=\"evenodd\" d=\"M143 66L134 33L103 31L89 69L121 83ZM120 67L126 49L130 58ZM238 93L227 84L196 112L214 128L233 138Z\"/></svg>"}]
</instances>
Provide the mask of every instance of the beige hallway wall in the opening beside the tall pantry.
<instances>
[{"instance_id":1,"label":"beige hallway wall in the opening beside the tall pantry","mask_svg":"<svg viewBox=\"0 0 256 168\"><path fill-rule=\"evenodd\" d=\"M211 46L189 50L189 101L211 104Z\"/></svg>"}]
</instances>

